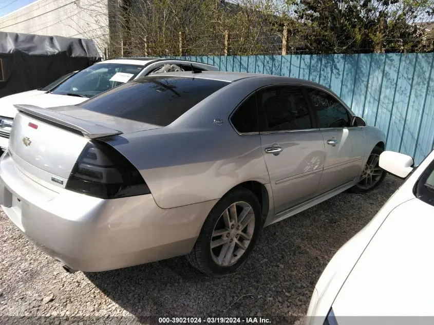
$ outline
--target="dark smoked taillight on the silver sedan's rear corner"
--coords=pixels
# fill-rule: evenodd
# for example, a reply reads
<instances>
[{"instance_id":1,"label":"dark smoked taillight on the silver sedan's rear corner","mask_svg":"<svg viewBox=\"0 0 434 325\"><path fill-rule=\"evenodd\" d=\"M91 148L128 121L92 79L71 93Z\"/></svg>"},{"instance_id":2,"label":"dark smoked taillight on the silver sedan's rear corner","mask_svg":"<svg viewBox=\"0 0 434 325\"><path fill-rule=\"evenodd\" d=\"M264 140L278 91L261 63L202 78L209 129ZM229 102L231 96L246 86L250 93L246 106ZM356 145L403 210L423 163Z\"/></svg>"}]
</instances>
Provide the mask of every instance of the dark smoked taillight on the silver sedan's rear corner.
<instances>
[{"instance_id":1,"label":"dark smoked taillight on the silver sedan's rear corner","mask_svg":"<svg viewBox=\"0 0 434 325\"><path fill-rule=\"evenodd\" d=\"M98 140L86 144L65 188L101 199L150 194L137 168L118 150Z\"/></svg>"}]
</instances>

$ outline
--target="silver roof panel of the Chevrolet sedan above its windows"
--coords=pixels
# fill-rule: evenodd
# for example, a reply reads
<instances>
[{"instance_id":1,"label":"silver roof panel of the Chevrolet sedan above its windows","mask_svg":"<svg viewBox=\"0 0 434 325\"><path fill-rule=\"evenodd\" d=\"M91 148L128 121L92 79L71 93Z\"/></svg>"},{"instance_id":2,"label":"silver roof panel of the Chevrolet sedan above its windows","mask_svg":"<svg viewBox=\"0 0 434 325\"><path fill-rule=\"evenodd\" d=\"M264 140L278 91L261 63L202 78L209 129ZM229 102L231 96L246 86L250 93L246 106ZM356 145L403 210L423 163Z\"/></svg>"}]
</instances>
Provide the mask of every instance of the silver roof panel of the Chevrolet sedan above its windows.
<instances>
[{"instance_id":1,"label":"silver roof panel of the Chevrolet sedan above its windows","mask_svg":"<svg viewBox=\"0 0 434 325\"><path fill-rule=\"evenodd\" d=\"M202 71L200 73L192 73L191 71L180 71L180 72L166 72L165 74L173 75L177 77L212 79L212 80L219 80L219 81L226 81L226 82L235 82L247 78L261 78L265 83L269 81L270 84L272 83L297 84L303 86L314 86L317 88L325 89L329 92L331 91L327 87L324 87L323 85L310 80L282 77L279 75L272 75L272 74L248 73L248 72L225 72L225 71Z\"/></svg>"}]
</instances>

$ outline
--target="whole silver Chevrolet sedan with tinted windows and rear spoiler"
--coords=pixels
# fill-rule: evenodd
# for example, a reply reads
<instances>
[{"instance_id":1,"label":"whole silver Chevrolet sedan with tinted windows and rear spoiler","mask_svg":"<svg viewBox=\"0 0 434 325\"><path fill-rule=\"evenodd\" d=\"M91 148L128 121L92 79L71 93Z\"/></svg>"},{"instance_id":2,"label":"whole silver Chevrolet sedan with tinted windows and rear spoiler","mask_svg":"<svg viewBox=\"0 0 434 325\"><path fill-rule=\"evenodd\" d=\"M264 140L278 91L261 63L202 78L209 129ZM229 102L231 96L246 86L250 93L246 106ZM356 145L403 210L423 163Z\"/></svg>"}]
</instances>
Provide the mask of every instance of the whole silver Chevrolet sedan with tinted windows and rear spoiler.
<instances>
[{"instance_id":1,"label":"whole silver Chevrolet sedan with tinted windows and rear spoiler","mask_svg":"<svg viewBox=\"0 0 434 325\"><path fill-rule=\"evenodd\" d=\"M16 108L0 203L69 271L187 255L229 274L263 226L385 176L384 133L305 80L174 72Z\"/></svg>"}]
</instances>

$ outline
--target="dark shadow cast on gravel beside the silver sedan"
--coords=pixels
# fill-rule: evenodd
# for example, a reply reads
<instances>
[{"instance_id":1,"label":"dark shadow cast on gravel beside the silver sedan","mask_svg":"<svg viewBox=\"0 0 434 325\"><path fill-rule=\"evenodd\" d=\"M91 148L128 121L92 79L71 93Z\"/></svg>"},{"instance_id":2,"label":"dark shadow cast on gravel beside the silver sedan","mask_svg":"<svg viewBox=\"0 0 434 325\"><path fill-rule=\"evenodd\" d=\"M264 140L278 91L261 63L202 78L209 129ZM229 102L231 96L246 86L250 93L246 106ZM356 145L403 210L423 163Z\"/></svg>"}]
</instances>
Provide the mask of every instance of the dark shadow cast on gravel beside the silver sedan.
<instances>
[{"instance_id":1,"label":"dark shadow cast on gravel beside the silver sedan","mask_svg":"<svg viewBox=\"0 0 434 325\"><path fill-rule=\"evenodd\" d=\"M371 193L342 193L266 227L246 264L231 276L208 278L183 257L85 275L139 320L260 315L276 317L273 323L288 323L285 316L302 319L331 257L372 219L401 183L387 176Z\"/></svg>"}]
</instances>

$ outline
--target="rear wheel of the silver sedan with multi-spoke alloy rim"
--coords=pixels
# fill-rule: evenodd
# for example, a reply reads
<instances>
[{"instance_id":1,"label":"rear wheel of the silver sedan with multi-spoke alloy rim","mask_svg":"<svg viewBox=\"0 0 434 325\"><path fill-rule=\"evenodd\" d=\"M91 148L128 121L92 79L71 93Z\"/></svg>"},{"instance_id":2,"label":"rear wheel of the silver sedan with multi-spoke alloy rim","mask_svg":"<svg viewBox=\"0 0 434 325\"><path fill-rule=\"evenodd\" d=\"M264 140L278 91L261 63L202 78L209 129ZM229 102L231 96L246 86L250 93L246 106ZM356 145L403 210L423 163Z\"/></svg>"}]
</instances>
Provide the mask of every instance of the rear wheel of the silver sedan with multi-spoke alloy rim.
<instances>
[{"instance_id":1,"label":"rear wheel of the silver sedan with multi-spoke alloy rim","mask_svg":"<svg viewBox=\"0 0 434 325\"><path fill-rule=\"evenodd\" d=\"M212 277L234 273L252 252L261 228L256 196L246 188L234 189L207 216L187 260Z\"/></svg>"}]
</instances>

